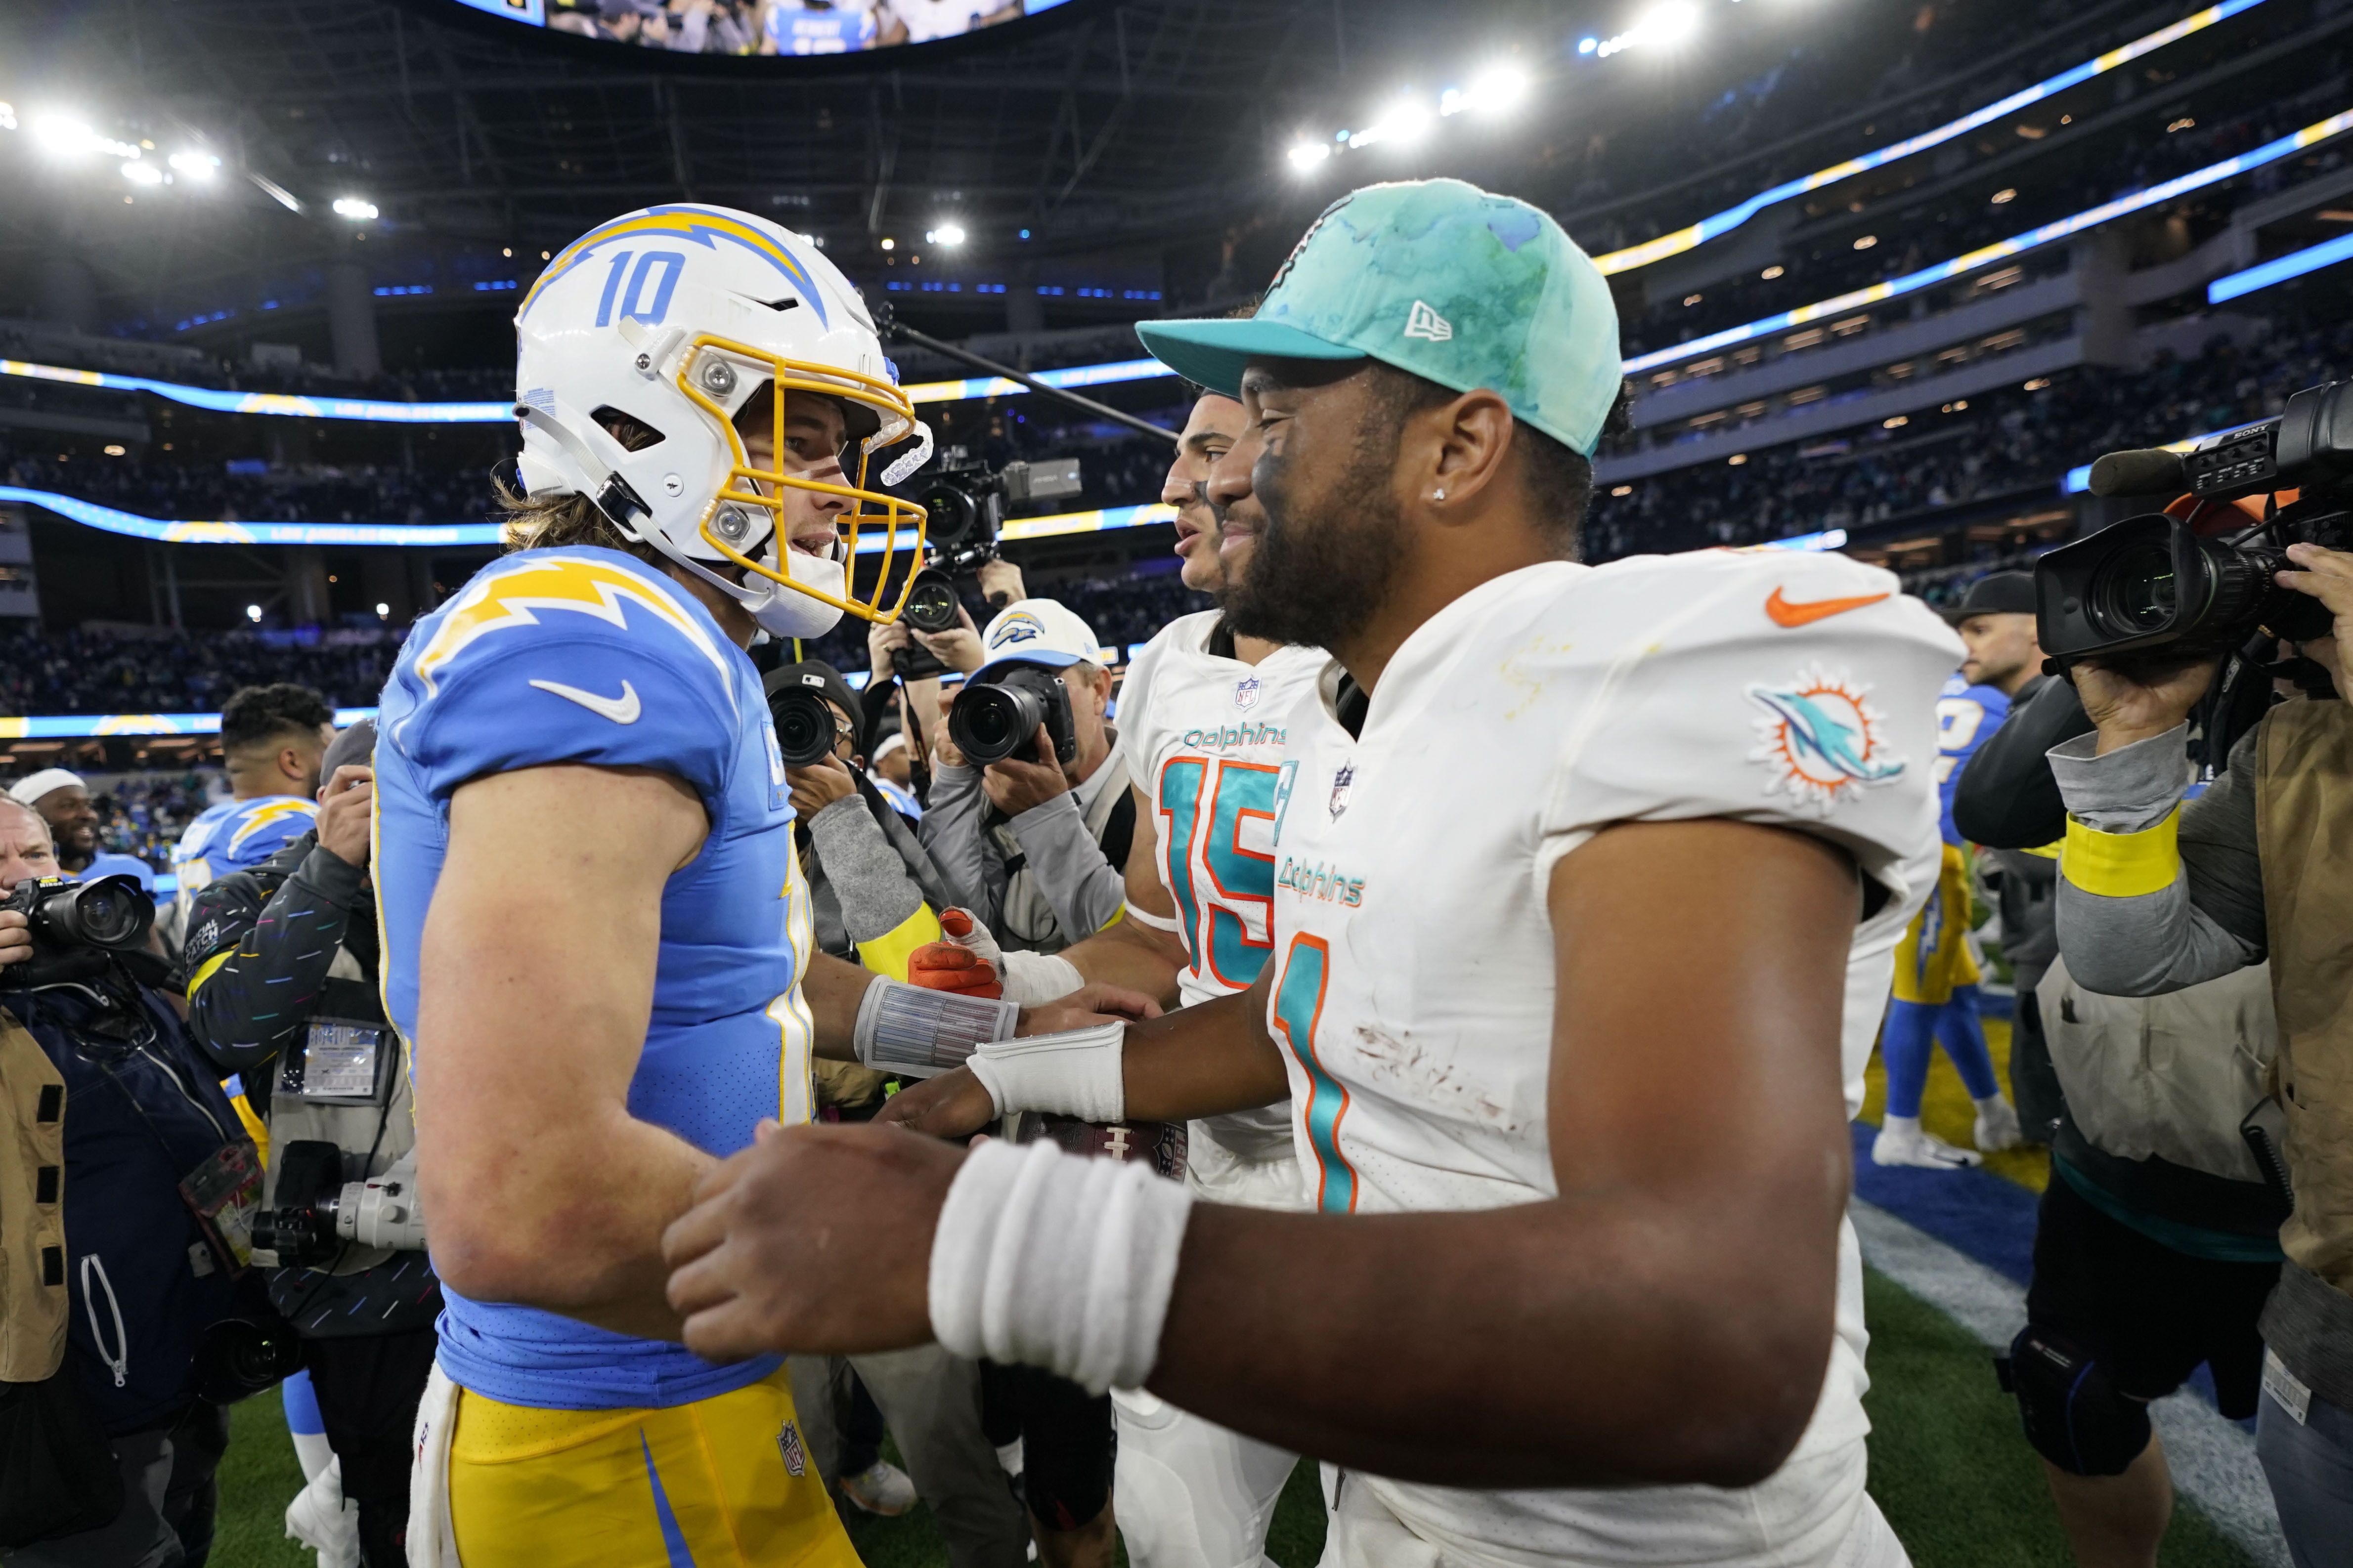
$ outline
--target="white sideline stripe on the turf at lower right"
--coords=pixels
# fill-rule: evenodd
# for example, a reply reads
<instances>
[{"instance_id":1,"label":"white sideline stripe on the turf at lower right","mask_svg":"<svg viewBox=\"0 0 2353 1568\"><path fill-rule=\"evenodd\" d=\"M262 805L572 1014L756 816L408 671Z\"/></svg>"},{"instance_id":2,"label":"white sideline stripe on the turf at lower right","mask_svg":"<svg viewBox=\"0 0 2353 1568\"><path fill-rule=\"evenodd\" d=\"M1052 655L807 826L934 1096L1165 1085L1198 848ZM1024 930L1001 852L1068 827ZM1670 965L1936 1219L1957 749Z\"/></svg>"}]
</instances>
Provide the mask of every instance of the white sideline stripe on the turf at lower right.
<instances>
[{"instance_id":1,"label":"white sideline stripe on the turf at lower right","mask_svg":"<svg viewBox=\"0 0 2353 1568\"><path fill-rule=\"evenodd\" d=\"M2026 1326L2026 1293L2019 1286L1918 1225L1854 1199L1854 1232L1864 1241L1864 1262L1984 1345L2005 1347ZM1993 1375L1991 1368L1986 1375ZM2174 1488L2257 1563L2292 1568L2271 1483L2254 1462L2254 1439L2188 1389L2148 1406L2148 1415L2165 1441Z\"/></svg>"}]
</instances>

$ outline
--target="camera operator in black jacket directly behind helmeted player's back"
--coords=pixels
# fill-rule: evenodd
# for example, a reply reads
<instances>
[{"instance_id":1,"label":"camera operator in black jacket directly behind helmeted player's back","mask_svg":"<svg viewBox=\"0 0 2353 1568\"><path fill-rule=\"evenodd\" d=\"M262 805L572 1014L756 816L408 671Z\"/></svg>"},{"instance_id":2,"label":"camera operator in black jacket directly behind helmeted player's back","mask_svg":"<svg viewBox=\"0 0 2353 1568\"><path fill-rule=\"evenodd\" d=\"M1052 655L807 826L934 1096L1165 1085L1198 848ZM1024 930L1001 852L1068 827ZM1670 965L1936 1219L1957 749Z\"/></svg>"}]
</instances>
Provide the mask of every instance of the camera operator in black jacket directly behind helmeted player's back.
<instances>
[{"instance_id":1,"label":"camera operator in black jacket directly behind helmeted player's back","mask_svg":"<svg viewBox=\"0 0 2353 1568\"><path fill-rule=\"evenodd\" d=\"M400 1046L376 999L376 898L369 884L376 726L362 719L327 748L315 823L261 865L205 886L181 961L188 1027L221 1072L247 1084L268 1119L266 1208L313 1199L299 1185L384 1175L416 1143ZM325 1175L311 1175L325 1168ZM282 1225L278 1227L285 1229ZM294 1324L341 1490L313 1476L322 1505L289 1526L332 1530L320 1514L358 1505L367 1568L405 1561L409 1427L433 1371L440 1284L421 1251L358 1239L280 1237L271 1305Z\"/></svg>"}]
</instances>

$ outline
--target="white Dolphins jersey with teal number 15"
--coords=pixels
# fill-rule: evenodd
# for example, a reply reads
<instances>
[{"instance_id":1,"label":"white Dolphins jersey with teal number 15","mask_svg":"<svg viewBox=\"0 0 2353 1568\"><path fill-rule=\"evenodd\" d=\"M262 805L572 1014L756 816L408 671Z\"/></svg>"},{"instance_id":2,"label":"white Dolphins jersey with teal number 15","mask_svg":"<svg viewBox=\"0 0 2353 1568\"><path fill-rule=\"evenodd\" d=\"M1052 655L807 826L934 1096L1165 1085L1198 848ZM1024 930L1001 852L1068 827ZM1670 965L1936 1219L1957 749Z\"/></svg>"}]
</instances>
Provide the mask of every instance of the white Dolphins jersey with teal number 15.
<instances>
[{"instance_id":1,"label":"white Dolphins jersey with teal number 15","mask_svg":"<svg viewBox=\"0 0 2353 1568\"><path fill-rule=\"evenodd\" d=\"M1160 835L1155 870L1191 959L1184 1006L1249 990L1275 950L1275 780L1285 715L1313 693L1329 656L1275 649L1257 665L1209 651L1219 611L1160 628L1120 684L1120 750ZM1292 1112L1268 1105L1193 1124L1242 1159L1285 1159Z\"/></svg>"}]
</instances>

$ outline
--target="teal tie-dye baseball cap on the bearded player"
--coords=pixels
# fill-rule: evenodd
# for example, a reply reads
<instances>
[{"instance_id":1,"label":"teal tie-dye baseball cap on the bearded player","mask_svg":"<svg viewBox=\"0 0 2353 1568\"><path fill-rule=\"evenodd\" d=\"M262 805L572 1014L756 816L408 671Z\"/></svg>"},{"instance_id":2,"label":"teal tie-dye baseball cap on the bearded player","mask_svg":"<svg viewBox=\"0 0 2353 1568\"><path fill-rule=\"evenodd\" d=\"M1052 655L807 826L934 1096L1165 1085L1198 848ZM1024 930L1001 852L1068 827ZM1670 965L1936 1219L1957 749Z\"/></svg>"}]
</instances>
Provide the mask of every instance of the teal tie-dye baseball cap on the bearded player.
<instances>
[{"instance_id":1,"label":"teal tie-dye baseball cap on the bearded player","mask_svg":"<svg viewBox=\"0 0 2353 1568\"><path fill-rule=\"evenodd\" d=\"M1379 360L1593 456L1621 386L1617 303L1539 207L1459 179L1365 186L1325 207L1247 320L1139 322L1179 376L1238 397L1249 360Z\"/></svg>"}]
</instances>

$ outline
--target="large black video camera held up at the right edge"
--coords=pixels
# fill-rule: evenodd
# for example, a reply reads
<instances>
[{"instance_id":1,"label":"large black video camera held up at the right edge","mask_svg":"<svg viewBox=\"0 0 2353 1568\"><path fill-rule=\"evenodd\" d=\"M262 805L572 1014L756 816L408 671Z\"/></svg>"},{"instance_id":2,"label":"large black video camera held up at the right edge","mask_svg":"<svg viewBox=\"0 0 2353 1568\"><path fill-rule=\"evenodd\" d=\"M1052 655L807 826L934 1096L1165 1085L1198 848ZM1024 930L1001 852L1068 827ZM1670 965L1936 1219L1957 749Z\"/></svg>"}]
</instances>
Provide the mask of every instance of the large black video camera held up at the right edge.
<instances>
[{"instance_id":1,"label":"large black video camera held up at the right edge","mask_svg":"<svg viewBox=\"0 0 2353 1568\"><path fill-rule=\"evenodd\" d=\"M2097 496L2179 496L2231 503L2264 496L2264 515L2224 534L2188 517L2144 512L2035 562L2042 651L2078 658L2179 665L2240 646L2254 628L2287 642L2329 630L2320 599L2280 588L2285 550L2353 543L2353 381L2306 388L2278 418L2209 435L2186 454L2111 451L2092 463ZM2287 505L2278 491L2297 491Z\"/></svg>"}]
</instances>

